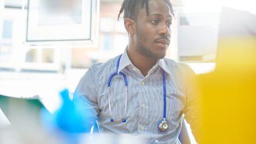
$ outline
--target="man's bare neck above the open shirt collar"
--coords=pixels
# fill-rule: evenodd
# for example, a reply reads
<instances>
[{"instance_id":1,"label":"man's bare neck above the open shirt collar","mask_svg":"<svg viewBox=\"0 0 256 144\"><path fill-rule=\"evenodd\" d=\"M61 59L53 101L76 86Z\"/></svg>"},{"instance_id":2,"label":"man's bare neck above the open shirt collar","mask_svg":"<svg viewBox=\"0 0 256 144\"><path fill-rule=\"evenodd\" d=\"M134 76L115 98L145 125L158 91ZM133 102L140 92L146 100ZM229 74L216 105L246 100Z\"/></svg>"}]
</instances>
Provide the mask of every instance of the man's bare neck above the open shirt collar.
<instances>
[{"instance_id":1,"label":"man's bare neck above the open shirt collar","mask_svg":"<svg viewBox=\"0 0 256 144\"><path fill-rule=\"evenodd\" d=\"M134 49L131 49L129 46L127 48L127 54L131 63L133 63L133 65L137 67L144 76L146 76L149 70L155 65L155 63L157 63L156 59L145 57L144 55L137 53Z\"/></svg>"}]
</instances>

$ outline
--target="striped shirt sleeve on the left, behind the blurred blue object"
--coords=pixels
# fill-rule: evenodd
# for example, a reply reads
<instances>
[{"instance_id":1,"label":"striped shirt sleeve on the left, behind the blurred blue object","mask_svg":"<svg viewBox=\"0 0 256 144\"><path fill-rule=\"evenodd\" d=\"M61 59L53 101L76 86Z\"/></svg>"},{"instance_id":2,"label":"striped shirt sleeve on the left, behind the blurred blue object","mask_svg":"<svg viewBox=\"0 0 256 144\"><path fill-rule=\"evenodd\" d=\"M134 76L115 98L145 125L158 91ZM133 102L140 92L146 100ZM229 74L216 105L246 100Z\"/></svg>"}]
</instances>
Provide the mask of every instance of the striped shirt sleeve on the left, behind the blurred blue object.
<instances>
[{"instance_id":1,"label":"striped shirt sleeve on the left, behind the blurred blue object","mask_svg":"<svg viewBox=\"0 0 256 144\"><path fill-rule=\"evenodd\" d=\"M73 101L79 104L79 109L85 111L86 117L89 118L99 115L96 88L93 71L90 68L80 79L73 95Z\"/></svg>"}]
</instances>

